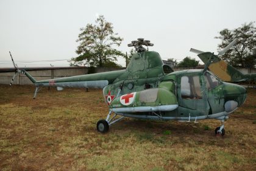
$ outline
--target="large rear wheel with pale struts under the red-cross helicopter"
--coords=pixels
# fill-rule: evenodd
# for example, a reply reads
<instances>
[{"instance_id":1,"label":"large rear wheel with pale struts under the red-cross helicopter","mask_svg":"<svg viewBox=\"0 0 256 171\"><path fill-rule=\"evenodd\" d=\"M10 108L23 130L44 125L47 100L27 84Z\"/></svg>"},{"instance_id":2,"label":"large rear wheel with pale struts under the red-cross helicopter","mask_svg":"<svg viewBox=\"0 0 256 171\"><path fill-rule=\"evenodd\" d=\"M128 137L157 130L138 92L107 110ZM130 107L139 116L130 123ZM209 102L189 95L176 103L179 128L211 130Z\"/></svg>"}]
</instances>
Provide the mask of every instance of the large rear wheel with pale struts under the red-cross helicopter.
<instances>
[{"instance_id":1,"label":"large rear wheel with pale struts under the red-cross helicopter","mask_svg":"<svg viewBox=\"0 0 256 171\"><path fill-rule=\"evenodd\" d=\"M113 120L117 114L114 114L113 117L110 118L110 115L112 114L112 111L109 111L108 115L107 115L107 119L101 119L98 121L97 123L97 130L100 133L107 133L109 126L114 124L115 122L118 122L119 120L122 120L124 118L124 116L119 117L118 119ZM112 121L113 120L113 121ZM111 122L112 121L112 122Z\"/></svg>"}]
</instances>

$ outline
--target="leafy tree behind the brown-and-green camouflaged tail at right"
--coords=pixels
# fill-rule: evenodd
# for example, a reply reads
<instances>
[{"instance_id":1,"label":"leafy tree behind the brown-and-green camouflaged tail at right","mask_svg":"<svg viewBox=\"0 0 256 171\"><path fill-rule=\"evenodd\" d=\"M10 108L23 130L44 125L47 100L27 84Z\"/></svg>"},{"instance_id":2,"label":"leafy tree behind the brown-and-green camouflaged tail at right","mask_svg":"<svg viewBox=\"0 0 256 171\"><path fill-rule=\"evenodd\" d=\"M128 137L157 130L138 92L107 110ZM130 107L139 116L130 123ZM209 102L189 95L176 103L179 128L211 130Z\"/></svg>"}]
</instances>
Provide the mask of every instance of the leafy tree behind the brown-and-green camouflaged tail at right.
<instances>
[{"instance_id":1,"label":"leafy tree behind the brown-and-green camouflaged tail at right","mask_svg":"<svg viewBox=\"0 0 256 171\"><path fill-rule=\"evenodd\" d=\"M222 40L221 44L218 44L218 50L220 51L226 47L235 38L237 42L232 46L229 51L222 55L222 60L226 60L232 66L255 66L256 61L252 59L254 49L256 49L256 27L254 23L242 24L237 29L229 30L223 29L219 32L219 38Z\"/></svg>"}]
</instances>

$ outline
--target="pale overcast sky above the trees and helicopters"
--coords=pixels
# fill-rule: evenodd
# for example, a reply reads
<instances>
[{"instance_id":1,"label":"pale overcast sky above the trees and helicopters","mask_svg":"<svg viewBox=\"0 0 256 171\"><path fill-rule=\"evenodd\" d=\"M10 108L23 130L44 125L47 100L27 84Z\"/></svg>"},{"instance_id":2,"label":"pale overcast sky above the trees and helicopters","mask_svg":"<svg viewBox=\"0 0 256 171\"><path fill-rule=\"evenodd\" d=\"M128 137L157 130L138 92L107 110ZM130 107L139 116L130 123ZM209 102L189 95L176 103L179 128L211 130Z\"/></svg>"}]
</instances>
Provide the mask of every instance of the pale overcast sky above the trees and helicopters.
<instances>
[{"instance_id":1,"label":"pale overcast sky above the trees and helicopters","mask_svg":"<svg viewBox=\"0 0 256 171\"><path fill-rule=\"evenodd\" d=\"M0 0L0 67L12 66L9 51L18 66L68 66L66 61L19 63L19 61L65 60L76 57L81 27L98 15L113 23L124 38L117 49L129 52L127 44L137 38L154 43L149 50L163 59L178 61L190 56L190 47L217 52L219 31L256 21L256 1L12 1ZM256 24L254 24L256 25ZM119 59L124 65L124 60Z\"/></svg>"}]
</instances>

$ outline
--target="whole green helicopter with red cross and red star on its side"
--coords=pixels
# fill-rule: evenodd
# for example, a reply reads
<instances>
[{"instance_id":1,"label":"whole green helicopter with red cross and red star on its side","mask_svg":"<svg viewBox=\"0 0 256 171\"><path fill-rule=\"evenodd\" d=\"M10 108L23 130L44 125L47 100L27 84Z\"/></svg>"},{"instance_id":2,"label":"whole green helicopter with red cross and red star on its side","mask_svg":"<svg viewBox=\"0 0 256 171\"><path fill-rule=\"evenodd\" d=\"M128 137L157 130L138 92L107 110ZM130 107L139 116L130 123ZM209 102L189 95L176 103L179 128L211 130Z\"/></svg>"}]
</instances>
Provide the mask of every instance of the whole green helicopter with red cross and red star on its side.
<instances>
[{"instance_id":1,"label":"whole green helicopter with red cross and red star on its side","mask_svg":"<svg viewBox=\"0 0 256 171\"><path fill-rule=\"evenodd\" d=\"M135 47L137 53L124 70L40 81L19 69L10 56L15 75L26 75L36 86L34 99L42 86L54 86L59 91L65 87L102 88L109 112L96 124L100 133L107 133L124 117L183 122L218 119L221 126L215 134L224 136L224 121L246 100L243 86L222 82L206 68L174 72L163 64L158 52L148 50L154 46L149 40L138 38L128 46Z\"/></svg>"}]
</instances>

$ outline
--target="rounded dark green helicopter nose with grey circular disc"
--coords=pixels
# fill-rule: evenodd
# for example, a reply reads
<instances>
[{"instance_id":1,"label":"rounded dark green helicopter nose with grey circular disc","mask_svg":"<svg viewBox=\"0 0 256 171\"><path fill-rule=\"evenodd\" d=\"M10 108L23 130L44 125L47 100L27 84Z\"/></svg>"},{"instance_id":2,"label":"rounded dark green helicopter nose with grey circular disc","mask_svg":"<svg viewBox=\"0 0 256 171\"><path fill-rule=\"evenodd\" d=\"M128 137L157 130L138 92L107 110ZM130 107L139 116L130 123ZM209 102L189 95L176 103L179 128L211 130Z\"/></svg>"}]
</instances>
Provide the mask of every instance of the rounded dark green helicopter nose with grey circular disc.
<instances>
[{"instance_id":1,"label":"rounded dark green helicopter nose with grey circular disc","mask_svg":"<svg viewBox=\"0 0 256 171\"><path fill-rule=\"evenodd\" d=\"M224 96L226 103L224 104L225 111L231 112L237 107L243 105L247 97L246 88L232 83L224 83Z\"/></svg>"}]
</instances>

